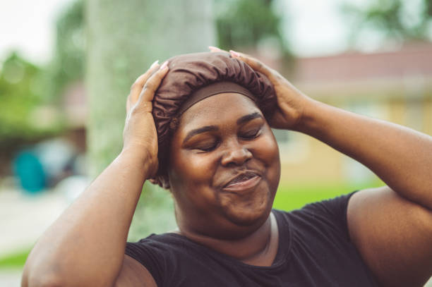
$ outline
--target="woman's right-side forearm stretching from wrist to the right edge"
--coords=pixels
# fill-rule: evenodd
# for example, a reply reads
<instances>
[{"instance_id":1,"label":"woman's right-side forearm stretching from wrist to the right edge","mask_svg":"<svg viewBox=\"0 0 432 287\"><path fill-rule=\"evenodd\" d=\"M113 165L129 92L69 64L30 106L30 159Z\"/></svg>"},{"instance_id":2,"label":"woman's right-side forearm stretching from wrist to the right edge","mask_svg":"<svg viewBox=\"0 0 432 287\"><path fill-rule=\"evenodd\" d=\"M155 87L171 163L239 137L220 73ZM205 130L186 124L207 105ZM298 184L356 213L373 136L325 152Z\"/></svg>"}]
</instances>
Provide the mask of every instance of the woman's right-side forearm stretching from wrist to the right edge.
<instances>
[{"instance_id":1,"label":"woman's right-side forearm stretching from wrist to the right edge","mask_svg":"<svg viewBox=\"0 0 432 287\"><path fill-rule=\"evenodd\" d=\"M296 130L356 159L395 192L432 209L431 136L312 100Z\"/></svg>"}]
</instances>

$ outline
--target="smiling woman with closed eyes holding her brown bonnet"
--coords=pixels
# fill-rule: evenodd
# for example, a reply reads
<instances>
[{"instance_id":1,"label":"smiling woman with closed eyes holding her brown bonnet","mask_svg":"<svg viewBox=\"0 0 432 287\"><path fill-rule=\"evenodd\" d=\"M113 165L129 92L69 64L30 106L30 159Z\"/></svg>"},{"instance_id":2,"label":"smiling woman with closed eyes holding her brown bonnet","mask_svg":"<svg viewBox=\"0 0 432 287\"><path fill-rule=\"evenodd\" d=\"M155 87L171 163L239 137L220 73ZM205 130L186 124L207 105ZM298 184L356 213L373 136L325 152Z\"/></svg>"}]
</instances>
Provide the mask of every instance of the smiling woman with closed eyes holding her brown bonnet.
<instances>
[{"instance_id":1,"label":"smiling woman with closed eyes holding her brown bonnet","mask_svg":"<svg viewBox=\"0 0 432 287\"><path fill-rule=\"evenodd\" d=\"M245 54L195 57L155 63L136 80L121 154L40 238L23 286L422 286L428 280L430 136L316 102ZM193 80L176 79L175 71ZM241 85L193 90L221 73ZM311 135L388 186L296 212L272 211L280 161L270 127ZM179 230L126 246L149 178L172 192Z\"/></svg>"}]
</instances>

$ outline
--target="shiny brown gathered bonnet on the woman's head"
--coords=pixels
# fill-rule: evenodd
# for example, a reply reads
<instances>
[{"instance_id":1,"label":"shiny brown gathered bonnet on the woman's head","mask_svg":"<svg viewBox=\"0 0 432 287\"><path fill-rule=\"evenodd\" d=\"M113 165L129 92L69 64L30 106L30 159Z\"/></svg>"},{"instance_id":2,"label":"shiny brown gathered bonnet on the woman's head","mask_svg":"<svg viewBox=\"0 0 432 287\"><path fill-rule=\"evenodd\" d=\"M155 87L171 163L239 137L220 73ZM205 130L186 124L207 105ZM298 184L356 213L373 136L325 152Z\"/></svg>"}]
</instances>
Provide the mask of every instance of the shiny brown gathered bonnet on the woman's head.
<instances>
[{"instance_id":1,"label":"shiny brown gathered bonnet on the woman's head","mask_svg":"<svg viewBox=\"0 0 432 287\"><path fill-rule=\"evenodd\" d=\"M236 92L253 99L267 116L275 104L275 90L265 75L227 53L196 53L168 60L169 72L155 93L153 117L159 144L159 171L167 173L169 143L176 121L190 106L206 97Z\"/></svg>"}]
</instances>

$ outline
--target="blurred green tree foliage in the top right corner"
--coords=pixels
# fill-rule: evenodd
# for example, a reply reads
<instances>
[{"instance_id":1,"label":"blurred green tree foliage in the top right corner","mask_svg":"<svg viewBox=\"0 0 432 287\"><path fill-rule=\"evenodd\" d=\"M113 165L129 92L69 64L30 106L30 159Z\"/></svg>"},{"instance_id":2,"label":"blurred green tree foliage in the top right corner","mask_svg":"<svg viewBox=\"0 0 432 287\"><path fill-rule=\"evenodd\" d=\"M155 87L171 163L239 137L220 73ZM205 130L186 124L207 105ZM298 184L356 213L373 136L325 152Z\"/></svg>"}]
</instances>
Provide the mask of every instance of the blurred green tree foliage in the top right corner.
<instances>
[{"instance_id":1,"label":"blurred green tree foliage in the top right corner","mask_svg":"<svg viewBox=\"0 0 432 287\"><path fill-rule=\"evenodd\" d=\"M413 8L414 7L414 8ZM432 0L421 0L419 6L409 0L377 0L360 8L352 4L342 7L356 19L353 37L363 30L376 30L385 39L424 40L432 20Z\"/></svg>"}]
</instances>

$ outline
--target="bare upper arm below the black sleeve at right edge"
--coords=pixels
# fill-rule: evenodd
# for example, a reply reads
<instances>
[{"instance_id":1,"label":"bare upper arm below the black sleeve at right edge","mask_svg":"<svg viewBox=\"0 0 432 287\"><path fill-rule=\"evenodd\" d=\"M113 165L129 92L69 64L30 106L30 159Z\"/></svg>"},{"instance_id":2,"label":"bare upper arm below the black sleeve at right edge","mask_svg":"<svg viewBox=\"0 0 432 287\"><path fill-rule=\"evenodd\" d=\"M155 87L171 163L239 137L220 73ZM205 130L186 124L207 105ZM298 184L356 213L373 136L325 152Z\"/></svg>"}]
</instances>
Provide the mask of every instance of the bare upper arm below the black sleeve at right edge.
<instances>
[{"instance_id":1,"label":"bare upper arm below the black sleeve at right edge","mask_svg":"<svg viewBox=\"0 0 432 287\"><path fill-rule=\"evenodd\" d=\"M432 211L388 187L361 190L348 204L349 236L385 286L423 286L432 276Z\"/></svg>"}]
</instances>

